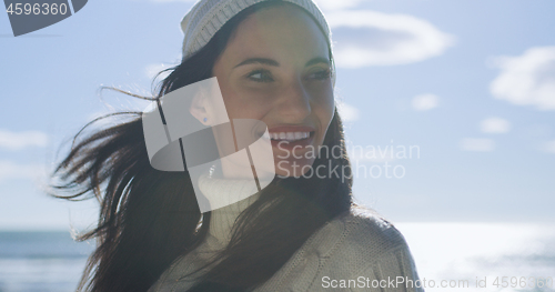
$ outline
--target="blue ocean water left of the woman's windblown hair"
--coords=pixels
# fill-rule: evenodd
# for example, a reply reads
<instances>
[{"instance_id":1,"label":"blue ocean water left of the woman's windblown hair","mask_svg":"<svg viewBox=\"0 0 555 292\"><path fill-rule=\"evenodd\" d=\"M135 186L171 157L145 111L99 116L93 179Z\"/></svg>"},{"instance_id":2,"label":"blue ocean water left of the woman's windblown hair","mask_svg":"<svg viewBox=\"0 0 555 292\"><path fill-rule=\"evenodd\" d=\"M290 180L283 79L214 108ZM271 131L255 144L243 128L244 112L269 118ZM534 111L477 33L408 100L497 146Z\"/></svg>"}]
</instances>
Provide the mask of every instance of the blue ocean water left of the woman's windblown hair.
<instances>
[{"instance_id":1,"label":"blue ocean water left of the woman's windblown hair","mask_svg":"<svg viewBox=\"0 0 555 292\"><path fill-rule=\"evenodd\" d=\"M75 291L93 248L69 232L0 232L0 292Z\"/></svg>"}]
</instances>

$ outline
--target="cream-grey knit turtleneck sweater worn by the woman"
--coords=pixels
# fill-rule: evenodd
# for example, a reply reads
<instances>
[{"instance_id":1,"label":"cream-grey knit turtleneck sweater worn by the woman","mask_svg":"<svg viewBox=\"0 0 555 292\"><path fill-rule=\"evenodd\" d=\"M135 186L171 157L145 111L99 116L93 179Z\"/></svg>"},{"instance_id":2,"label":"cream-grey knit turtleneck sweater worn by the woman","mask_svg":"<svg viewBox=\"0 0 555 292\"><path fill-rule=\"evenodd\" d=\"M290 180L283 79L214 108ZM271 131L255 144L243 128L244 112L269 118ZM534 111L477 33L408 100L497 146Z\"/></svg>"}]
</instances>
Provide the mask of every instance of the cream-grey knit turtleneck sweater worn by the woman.
<instances>
[{"instance_id":1,"label":"cream-grey knit turtleneck sweater worn by the woman","mask_svg":"<svg viewBox=\"0 0 555 292\"><path fill-rule=\"evenodd\" d=\"M203 193L233 195L244 191L241 180L200 179ZM178 258L148 292L186 291L194 284L190 272L200 268L230 239L239 213L256 195L212 211L206 240ZM352 210L317 230L293 256L254 291L382 291L423 292L403 235L371 211ZM400 283L403 281L403 283Z\"/></svg>"}]
</instances>

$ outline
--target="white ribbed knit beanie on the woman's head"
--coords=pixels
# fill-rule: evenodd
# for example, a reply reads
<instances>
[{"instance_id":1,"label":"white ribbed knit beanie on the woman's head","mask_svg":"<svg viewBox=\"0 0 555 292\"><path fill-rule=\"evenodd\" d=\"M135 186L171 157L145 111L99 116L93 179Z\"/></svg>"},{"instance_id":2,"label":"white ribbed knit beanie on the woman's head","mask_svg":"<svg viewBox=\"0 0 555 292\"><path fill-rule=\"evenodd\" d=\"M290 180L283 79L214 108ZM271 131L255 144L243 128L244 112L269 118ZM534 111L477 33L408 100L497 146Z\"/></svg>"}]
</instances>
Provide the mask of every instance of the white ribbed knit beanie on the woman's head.
<instances>
[{"instance_id":1,"label":"white ribbed knit beanie on the woman's head","mask_svg":"<svg viewBox=\"0 0 555 292\"><path fill-rule=\"evenodd\" d=\"M202 49L225 22L243 9L268 0L200 0L181 20L183 60ZM331 31L322 11L312 0L282 0L304 8L317 21L331 46ZM337 0L340 1L340 0Z\"/></svg>"}]
</instances>

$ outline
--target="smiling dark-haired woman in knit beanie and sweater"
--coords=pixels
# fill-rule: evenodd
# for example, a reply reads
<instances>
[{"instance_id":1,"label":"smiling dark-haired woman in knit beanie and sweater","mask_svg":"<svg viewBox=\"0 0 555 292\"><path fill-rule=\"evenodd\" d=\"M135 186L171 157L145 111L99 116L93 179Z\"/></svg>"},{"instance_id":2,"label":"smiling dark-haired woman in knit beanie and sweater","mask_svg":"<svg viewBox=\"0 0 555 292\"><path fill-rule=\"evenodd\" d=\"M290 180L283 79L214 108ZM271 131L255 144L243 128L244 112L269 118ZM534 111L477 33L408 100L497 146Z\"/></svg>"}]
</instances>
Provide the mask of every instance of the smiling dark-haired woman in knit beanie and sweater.
<instances>
[{"instance_id":1,"label":"smiling dark-haired woman in knit beanie and sweater","mask_svg":"<svg viewBox=\"0 0 555 292\"><path fill-rule=\"evenodd\" d=\"M202 213L193 182L205 195L231 197L248 180L223 163L200 178L155 170L141 113L124 113L134 118L77 142L54 172L65 182L58 190L71 192L57 197L93 192L101 202L97 229L80 238L97 238L98 248L78 290L369 291L377 284L422 291L406 284L418 278L401 233L352 202L331 33L314 3L202 0L182 28L182 62L169 69L153 100L215 77L230 120L268 125L278 175L255 195ZM191 124L216 125L206 103L193 101L189 112ZM309 149L320 152L307 155ZM405 283L391 285L397 276Z\"/></svg>"}]
</instances>

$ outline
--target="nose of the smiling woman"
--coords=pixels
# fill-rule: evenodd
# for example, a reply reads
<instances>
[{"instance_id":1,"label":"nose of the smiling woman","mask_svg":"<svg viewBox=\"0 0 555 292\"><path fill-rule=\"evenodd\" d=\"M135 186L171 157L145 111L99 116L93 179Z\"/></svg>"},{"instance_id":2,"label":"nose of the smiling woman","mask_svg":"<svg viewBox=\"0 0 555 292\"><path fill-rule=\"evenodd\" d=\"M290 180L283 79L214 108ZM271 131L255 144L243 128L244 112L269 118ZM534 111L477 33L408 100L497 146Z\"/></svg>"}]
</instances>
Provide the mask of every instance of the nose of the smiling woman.
<instances>
[{"instance_id":1,"label":"nose of the smiling woman","mask_svg":"<svg viewBox=\"0 0 555 292\"><path fill-rule=\"evenodd\" d=\"M280 94L275 109L290 123L300 123L311 114L311 95L301 80L290 82Z\"/></svg>"}]
</instances>

